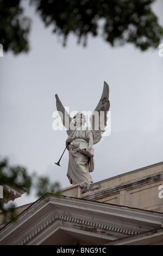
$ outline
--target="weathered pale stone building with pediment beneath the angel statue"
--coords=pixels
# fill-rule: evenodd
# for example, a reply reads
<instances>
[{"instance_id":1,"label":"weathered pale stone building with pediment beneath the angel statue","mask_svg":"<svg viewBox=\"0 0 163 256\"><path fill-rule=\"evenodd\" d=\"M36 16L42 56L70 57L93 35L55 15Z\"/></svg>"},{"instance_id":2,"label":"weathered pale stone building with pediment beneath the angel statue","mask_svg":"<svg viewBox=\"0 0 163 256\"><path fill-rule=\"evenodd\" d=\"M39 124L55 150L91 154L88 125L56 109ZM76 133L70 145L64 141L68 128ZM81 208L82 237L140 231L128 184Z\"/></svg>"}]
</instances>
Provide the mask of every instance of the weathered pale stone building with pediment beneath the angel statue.
<instances>
[{"instance_id":1,"label":"weathered pale stone building with pediment beneath the angel statue","mask_svg":"<svg viewBox=\"0 0 163 256\"><path fill-rule=\"evenodd\" d=\"M4 186L9 200L23 188ZM16 209L10 222L0 214L0 245L163 245L163 162L92 184L46 193Z\"/></svg>"}]
</instances>

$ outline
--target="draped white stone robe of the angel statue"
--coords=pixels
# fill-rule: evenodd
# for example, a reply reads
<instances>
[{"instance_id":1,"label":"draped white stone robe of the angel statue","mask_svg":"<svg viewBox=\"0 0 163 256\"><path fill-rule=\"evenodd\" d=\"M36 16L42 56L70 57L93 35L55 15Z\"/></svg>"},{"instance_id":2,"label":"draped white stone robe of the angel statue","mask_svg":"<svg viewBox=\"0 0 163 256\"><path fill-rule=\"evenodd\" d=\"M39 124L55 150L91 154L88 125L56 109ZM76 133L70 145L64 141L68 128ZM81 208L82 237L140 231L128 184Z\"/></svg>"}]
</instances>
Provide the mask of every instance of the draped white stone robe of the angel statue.
<instances>
[{"instance_id":1,"label":"draped white stone robe of the angel statue","mask_svg":"<svg viewBox=\"0 0 163 256\"><path fill-rule=\"evenodd\" d=\"M73 135L73 141L68 145L69 162L67 177L71 184L83 182L91 184L93 182L90 172L93 172L94 169L94 159L78 151L78 145L81 141L89 142L90 133L93 136L93 132L86 127L82 130L76 130ZM72 134L69 137L72 137Z\"/></svg>"}]
</instances>

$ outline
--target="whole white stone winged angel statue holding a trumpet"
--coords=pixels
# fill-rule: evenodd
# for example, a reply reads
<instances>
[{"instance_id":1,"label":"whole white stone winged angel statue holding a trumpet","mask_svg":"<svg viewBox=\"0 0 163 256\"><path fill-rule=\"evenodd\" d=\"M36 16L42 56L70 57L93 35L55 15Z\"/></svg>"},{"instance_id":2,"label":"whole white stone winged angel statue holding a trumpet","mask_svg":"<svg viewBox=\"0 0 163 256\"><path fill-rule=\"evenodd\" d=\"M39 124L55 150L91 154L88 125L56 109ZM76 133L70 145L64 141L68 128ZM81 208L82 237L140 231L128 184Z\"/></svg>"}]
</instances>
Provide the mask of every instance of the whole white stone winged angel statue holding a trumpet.
<instances>
[{"instance_id":1,"label":"whole white stone winged angel statue holding a trumpet","mask_svg":"<svg viewBox=\"0 0 163 256\"><path fill-rule=\"evenodd\" d=\"M57 94L55 94L55 98L58 113L68 135L65 148L69 154L67 177L70 184L79 184L83 192L94 190L90 175L95 166L92 147L101 140L105 130L106 115L110 108L109 86L104 82L101 99L90 116L91 127L85 126L86 117L83 113L78 112L73 118L70 117Z\"/></svg>"}]
</instances>

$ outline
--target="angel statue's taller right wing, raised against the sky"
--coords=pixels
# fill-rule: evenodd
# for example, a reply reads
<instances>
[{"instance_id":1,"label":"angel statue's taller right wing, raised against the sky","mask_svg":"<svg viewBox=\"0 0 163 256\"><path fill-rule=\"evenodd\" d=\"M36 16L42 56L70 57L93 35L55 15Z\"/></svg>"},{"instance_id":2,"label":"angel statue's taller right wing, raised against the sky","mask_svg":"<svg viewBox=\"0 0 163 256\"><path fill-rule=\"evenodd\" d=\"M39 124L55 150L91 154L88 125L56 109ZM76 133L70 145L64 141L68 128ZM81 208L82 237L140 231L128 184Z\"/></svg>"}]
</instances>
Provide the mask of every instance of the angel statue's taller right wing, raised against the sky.
<instances>
[{"instance_id":1,"label":"angel statue's taller right wing, raised against the sky","mask_svg":"<svg viewBox=\"0 0 163 256\"><path fill-rule=\"evenodd\" d=\"M108 119L107 113L109 108L109 86L106 82L104 82L101 99L99 100L97 107L90 116L91 129L95 136L93 144L98 143L102 138L103 132L105 131L106 121Z\"/></svg>"}]
</instances>

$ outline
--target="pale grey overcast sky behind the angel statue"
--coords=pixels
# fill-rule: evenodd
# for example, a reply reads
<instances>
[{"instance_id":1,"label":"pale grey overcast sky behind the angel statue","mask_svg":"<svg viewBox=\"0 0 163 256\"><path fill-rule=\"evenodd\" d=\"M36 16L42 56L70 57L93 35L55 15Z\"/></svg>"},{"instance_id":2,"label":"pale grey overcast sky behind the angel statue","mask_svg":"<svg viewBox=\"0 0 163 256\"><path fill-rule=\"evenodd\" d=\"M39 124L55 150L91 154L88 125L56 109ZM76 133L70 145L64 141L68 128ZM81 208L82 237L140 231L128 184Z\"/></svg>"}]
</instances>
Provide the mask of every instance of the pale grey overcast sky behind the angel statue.
<instances>
[{"instance_id":1,"label":"pale grey overcast sky behind the angel statue","mask_svg":"<svg viewBox=\"0 0 163 256\"><path fill-rule=\"evenodd\" d=\"M27 3L27 2L26 2ZM163 26L163 2L153 6ZM62 39L45 28L32 7L30 52L0 58L0 154L11 165L21 164L29 173L48 175L62 188L70 186L66 176L68 151L66 131L54 131L52 114L55 94L72 111L93 111L103 83L110 88L111 134L95 148L93 181L101 181L163 159L163 57L159 48L141 52L133 45L112 48L102 38L89 36L87 46L77 38ZM163 42L162 42L163 43ZM18 205L36 200L33 195L17 199Z\"/></svg>"}]
</instances>

